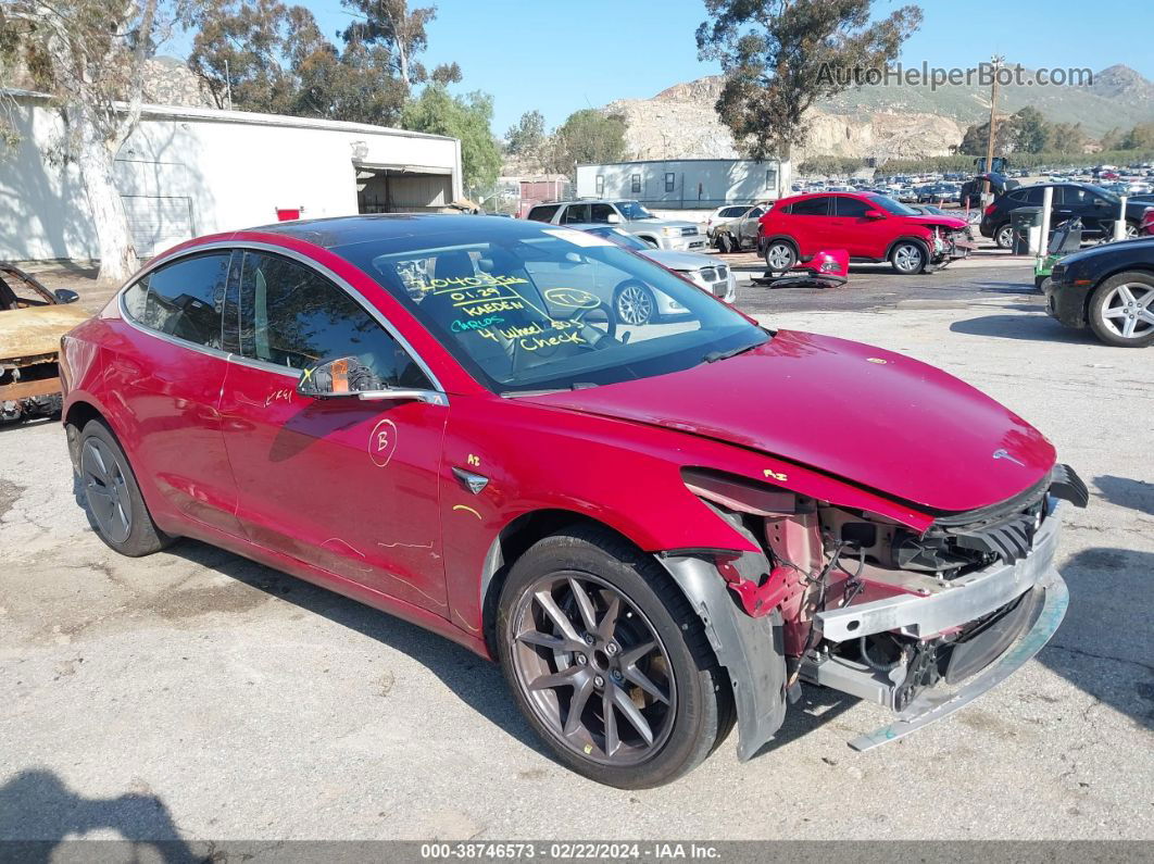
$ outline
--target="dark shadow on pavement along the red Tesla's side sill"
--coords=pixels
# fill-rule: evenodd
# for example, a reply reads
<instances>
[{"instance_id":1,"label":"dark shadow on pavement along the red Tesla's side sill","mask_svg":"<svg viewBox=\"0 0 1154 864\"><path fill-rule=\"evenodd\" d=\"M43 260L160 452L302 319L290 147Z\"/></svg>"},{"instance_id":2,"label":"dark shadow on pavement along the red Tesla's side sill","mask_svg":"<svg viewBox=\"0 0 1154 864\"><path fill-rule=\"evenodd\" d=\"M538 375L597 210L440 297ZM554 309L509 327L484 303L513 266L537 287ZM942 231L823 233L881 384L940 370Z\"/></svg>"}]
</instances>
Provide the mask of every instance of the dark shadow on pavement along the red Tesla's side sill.
<instances>
[{"instance_id":1,"label":"dark shadow on pavement along the red Tesla's side sill","mask_svg":"<svg viewBox=\"0 0 1154 864\"><path fill-rule=\"evenodd\" d=\"M215 546L181 539L167 553L237 579L412 658L478 714L525 746L552 758L517 711L496 663L415 624Z\"/></svg>"}]
</instances>

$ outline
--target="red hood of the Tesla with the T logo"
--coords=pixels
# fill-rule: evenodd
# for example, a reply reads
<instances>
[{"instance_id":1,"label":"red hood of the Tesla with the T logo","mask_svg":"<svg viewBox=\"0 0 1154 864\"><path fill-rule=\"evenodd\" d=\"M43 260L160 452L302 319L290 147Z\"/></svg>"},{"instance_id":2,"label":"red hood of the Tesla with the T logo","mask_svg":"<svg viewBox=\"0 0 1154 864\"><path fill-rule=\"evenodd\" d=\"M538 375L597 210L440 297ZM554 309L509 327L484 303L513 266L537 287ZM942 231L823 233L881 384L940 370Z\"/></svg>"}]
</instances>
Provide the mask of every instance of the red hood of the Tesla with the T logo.
<instances>
[{"instance_id":1,"label":"red hood of the Tesla with the T logo","mask_svg":"<svg viewBox=\"0 0 1154 864\"><path fill-rule=\"evenodd\" d=\"M1055 461L1041 433L939 369L787 330L728 360L525 401L756 449L930 511L1005 501Z\"/></svg>"}]
</instances>

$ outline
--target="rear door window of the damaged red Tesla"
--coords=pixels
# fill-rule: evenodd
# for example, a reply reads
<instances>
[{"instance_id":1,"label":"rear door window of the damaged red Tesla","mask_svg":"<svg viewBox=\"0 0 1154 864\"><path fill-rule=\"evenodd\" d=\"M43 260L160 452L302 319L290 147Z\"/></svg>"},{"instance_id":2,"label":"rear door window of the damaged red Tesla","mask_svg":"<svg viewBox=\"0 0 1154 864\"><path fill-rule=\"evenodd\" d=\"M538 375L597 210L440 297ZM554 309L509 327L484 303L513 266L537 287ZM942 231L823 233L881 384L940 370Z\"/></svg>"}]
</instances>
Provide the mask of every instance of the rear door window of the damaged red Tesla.
<instances>
[{"instance_id":1,"label":"rear door window of the damaged red Tesla","mask_svg":"<svg viewBox=\"0 0 1154 864\"><path fill-rule=\"evenodd\" d=\"M230 253L165 264L125 292L125 309L144 326L209 348L222 347Z\"/></svg>"}]
</instances>

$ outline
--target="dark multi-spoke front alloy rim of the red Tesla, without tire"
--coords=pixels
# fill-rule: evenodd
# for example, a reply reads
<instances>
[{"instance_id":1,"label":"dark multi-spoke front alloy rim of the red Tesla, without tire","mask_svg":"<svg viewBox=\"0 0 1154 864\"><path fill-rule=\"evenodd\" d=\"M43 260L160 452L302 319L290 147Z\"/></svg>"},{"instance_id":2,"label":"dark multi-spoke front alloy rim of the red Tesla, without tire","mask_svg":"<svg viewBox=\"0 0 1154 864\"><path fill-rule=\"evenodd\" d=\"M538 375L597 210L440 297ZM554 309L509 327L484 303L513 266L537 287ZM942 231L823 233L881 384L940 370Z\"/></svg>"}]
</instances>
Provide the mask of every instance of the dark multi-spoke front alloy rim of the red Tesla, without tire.
<instances>
[{"instance_id":1,"label":"dark multi-spoke front alloy rim of the red Tesla, without tire","mask_svg":"<svg viewBox=\"0 0 1154 864\"><path fill-rule=\"evenodd\" d=\"M534 581L510 618L517 685L564 747L606 765L655 754L673 730L673 664L640 609L586 572Z\"/></svg>"}]
</instances>

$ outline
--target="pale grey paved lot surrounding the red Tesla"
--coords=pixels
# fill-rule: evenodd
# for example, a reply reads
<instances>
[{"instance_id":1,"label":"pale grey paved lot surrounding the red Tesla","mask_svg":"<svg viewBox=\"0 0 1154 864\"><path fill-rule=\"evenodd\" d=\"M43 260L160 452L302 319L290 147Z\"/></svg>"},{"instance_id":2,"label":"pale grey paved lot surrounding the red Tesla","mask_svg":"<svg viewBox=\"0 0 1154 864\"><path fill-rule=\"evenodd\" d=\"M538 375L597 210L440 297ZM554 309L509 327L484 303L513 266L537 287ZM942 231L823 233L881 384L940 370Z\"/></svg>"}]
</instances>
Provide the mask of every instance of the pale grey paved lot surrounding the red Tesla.
<instances>
[{"instance_id":1,"label":"pale grey paved lot surrounding the red Tesla","mask_svg":"<svg viewBox=\"0 0 1154 864\"><path fill-rule=\"evenodd\" d=\"M417 628L194 542L117 556L59 427L0 429L0 839L1154 839L1154 351L1061 329L1028 275L739 302L942 366L1054 439L1093 493L1055 641L902 742L854 753L885 714L810 689L752 761L730 739L646 792L560 768L495 667Z\"/></svg>"}]
</instances>

